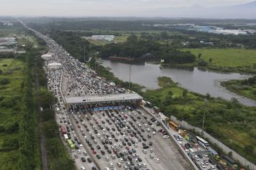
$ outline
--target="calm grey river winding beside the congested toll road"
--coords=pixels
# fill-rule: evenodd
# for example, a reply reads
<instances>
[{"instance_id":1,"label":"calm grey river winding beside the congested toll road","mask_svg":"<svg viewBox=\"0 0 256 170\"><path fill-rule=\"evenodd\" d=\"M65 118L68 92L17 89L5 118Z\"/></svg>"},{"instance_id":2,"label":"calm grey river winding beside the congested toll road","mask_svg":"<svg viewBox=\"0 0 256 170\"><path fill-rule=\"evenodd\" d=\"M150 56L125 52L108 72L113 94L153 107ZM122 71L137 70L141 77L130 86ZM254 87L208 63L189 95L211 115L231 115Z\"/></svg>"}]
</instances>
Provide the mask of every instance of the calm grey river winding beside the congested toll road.
<instances>
[{"instance_id":1,"label":"calm grey river winding beside the congested toll road","mask_svg":"<svg viewBox=\"0 0 256 170\"><path fill-rule=\"evenodd\" d=\"M120 80L129 80L129 69L130 65L113 62L110 60L103 60L102 63L105 67L110 67L114 75ZM131 65L131 82L136 82L139 85L144 85L148 89L159 88L157 84L157 77L166 76L170 77L173 81L178 82L182 88L206 95L209 93L213 97L220 97L226 100L231 98L237 98L240 103L249 106L255 106L256 101L244 98L235 93L231 93L226 88L220 85L221 81L232 80L232 79L246 79L249 75L241 75L239 73L220 73L198 70L182 70L175 68L163 68L160 69L160 65L154 65L146 63L145 65Z\"/></svg>"}]
</instances>

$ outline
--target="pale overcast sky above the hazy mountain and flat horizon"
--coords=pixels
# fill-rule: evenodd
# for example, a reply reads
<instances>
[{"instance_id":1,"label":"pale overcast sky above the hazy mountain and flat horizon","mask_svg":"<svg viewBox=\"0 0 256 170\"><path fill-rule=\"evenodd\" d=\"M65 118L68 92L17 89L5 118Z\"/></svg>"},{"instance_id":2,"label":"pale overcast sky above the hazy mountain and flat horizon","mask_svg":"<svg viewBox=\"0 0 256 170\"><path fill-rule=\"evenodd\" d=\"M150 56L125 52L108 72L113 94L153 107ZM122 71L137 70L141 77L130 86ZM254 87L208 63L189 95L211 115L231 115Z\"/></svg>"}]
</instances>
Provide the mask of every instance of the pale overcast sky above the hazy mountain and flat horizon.
<instances>
[{"instance_id":1,"label":"pale overcast sky above the hazy mountain and flat horizon","mask_svg":"<svg viewBox=\"0 0 256 170\"><path fill-rule=\"evenodd\" d=\"M0 0L0 16L154 16L186 6L233 6L252 0ZM164 13L159 13L162 15Z\"/></svg>"}]
</instances>

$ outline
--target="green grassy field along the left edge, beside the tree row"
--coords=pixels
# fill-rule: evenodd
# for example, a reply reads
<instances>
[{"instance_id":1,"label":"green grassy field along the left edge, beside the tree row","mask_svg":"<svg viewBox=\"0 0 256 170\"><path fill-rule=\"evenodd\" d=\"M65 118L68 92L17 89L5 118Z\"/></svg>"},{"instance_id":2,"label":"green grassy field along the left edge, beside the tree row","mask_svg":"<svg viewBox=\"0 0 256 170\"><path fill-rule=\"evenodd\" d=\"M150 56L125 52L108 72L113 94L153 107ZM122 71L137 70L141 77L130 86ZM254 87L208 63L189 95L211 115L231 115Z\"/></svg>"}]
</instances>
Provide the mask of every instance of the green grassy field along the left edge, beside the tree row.
<instances>
[{"instance_id":1,"label":"green grassy field along the left edge, beside the tree row","mask_svg":"<svg viewBox=\"0 0 256 170\"><path fill-rule=\"evenodd\" d=\"M9 80L7 84L0 83L0 169L16 169L17 148L4 143L18 136L14 123L19 121L22 108L23 63L14 59L0 59L0 70L0 80Z\"/></svg>"}]
</instances>

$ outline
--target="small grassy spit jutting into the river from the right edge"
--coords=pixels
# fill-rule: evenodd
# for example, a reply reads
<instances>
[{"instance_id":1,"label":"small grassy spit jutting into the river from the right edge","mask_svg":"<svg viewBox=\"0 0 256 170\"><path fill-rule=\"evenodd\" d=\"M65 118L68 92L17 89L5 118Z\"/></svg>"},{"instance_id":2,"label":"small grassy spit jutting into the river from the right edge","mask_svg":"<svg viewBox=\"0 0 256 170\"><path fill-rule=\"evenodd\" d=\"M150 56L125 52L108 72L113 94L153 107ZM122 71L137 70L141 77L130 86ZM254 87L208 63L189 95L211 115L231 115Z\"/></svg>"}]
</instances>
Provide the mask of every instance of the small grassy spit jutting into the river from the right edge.
<instances>
[{"instance_id":1,"label":"small grassy spit jutting into the river from the right edge","mask_svg":"<svg viewBox=\"0 0 256 170\"><path fill-rule=\"evenodd\" d=\"M248 80L229 80L221 82L221 85L233 93L242 95L246 98L256 100L256 84L250 83Z\"/></svg>"}]
</instances>

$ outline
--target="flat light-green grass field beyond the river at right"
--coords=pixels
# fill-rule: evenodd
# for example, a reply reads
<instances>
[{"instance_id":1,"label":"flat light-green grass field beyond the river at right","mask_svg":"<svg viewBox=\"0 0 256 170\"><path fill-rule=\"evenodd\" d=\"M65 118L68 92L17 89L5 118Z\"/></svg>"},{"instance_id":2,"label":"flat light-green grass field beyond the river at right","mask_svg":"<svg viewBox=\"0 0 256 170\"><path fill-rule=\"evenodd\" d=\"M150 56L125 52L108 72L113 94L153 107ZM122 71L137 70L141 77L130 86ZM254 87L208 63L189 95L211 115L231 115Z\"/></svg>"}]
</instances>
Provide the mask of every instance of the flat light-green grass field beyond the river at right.
<instances>
[{"instance_id":1,"label":"flat light-green grass field beyond the river at right","mask_svg":"<svg viewBox=\"0 0 256 170\"><path fill-rule=\"evenodd\" d=\"M255 49L184 49L192 52L196 57L199 53L208 61L212 58L212 65L217 67L253 67L256 63Z\"/></svg>"}]
</instances>

